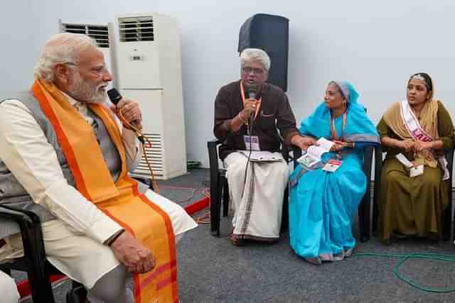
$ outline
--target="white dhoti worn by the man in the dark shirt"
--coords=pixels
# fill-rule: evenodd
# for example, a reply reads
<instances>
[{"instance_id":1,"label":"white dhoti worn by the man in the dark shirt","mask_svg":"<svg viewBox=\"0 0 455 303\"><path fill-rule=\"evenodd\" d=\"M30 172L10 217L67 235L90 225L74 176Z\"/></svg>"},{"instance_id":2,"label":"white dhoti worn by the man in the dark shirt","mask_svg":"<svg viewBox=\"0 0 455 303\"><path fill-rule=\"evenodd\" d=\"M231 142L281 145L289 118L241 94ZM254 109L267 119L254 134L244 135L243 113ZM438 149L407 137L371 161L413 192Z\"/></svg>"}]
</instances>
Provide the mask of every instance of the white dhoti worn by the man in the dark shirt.
<instances>
[{"instance_id":1,"label":"white dhoti worn by the man in the dark shirt","mask_svg":"<svg viewBox=\"0 0 455 303\"><path fill-rule=\"evenodd\" d=\"M282 158L280 153L274 153ZM282 222L284 190L290 169L280 162L250 162L245 180L247 156L230 153L225 158L229 196L234 206L234 234L240 238L276 240Z\"/></svg>"}]
</instances>

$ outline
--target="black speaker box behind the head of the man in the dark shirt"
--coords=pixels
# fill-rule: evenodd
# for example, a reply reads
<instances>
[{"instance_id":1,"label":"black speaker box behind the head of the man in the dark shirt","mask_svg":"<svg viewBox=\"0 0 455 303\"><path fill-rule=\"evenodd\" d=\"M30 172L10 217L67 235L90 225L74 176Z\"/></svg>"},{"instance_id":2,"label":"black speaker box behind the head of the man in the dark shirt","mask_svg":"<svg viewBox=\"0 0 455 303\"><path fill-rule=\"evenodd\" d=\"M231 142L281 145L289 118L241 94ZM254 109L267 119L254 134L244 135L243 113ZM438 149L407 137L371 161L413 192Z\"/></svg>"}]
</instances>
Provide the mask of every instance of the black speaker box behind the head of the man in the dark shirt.
<instances>
[{"instance_id":1,"label":"black speaker box behind the head of the man in the dark shirt","mask_svg":"<svg viewBox=\"0 0 455 303\"><path fill-rule=\"evenodd\" d=\"M239 33L238 52L245 48L260 48L270 57L272 65L267 82L287 91L289 54L289 19L257 13L243 23Z\"/></svg>"}]
</instances>

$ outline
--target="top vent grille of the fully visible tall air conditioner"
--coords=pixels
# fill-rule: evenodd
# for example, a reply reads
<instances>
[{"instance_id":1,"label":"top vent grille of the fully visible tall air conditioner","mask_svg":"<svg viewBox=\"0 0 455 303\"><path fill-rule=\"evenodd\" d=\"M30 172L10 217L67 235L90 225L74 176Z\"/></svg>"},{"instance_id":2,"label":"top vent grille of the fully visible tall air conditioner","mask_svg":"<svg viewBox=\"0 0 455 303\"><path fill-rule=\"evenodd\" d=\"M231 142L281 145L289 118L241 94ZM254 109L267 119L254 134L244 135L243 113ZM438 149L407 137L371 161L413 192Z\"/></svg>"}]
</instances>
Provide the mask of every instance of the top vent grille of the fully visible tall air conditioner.
<instances>
[{"instance_id":1,"label":"top vent grille of the fully visible tall air conditioner","mask_svg":"<svg viewBox=\"0 0 455 303\"><path fill-rule=\"evenodd\" d=\"M119 18L119 35L120 42L154 41L153 18Z\"/></svg>"}]
</instances>

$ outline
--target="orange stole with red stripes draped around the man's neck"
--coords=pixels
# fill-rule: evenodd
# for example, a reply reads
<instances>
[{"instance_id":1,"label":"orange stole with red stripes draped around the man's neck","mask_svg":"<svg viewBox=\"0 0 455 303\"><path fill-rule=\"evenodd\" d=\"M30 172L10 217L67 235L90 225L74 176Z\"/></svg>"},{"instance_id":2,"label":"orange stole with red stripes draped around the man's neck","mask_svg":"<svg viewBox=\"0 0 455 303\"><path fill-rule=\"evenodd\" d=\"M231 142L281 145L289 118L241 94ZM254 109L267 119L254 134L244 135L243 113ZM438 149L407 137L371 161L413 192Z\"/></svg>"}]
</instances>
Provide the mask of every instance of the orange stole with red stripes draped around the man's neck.
<instances>
[{"instance_id":1,"label":"orange stole with red stripes draped around the man's neck","mask_svg":"<svg viewBox=\"0 0 455 303\"><path fill-rule=\"evenodd\" d=\"M178 302L176 243L171 219L140 194L137 181L129 177L122 135L109 109L104 104L88 104L102 119L122 160L122 171L115 182L95 132L65 95L54 84L43 80L35 80L31 90L55 130L77 190L154 254L154 270L133 275L136 302Z\"/></svg>"}]
</instances>

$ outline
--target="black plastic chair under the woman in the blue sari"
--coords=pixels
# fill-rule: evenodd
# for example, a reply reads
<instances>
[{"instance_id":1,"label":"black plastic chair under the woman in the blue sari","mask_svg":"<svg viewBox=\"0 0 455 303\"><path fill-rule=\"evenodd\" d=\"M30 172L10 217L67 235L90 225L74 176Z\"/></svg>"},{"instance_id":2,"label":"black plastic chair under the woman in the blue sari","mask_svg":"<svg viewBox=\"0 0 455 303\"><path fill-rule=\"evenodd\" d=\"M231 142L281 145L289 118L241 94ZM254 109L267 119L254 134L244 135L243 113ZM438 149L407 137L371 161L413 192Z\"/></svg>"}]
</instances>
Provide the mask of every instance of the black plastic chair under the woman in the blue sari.
<instances>
[{"instance_id":1,"label":"black plastic chair under the woman in the blue sari","mask_svg":"<svg viewBox=\"0 0 455 303\"><path fill-rule=\"evenodd\" d=\"M301 150L293 146L294 151L294 167L298 165L296 159L301 156ZM370 210L371 210L371 165L373 162L373 146L366 146L363 149L363 173L367 177L367 191L363 196L362 201L358 206L358 228L360 242L370 240Z\"/></svg>"}]
</instances>

